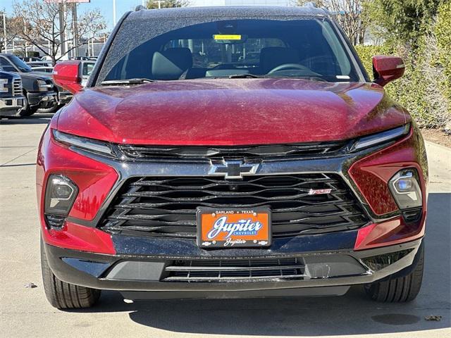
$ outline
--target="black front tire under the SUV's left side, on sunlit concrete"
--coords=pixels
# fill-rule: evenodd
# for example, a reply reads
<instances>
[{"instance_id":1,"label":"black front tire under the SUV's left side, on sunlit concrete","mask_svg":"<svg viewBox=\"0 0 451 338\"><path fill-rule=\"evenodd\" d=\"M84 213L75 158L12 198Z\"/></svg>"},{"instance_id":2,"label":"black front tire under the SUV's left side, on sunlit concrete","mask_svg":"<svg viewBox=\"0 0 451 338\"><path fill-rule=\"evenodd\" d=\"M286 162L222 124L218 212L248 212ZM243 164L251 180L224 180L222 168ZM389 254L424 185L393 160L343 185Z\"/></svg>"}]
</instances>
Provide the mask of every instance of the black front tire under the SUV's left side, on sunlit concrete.
<instances>
[{"instance_id":1,"label":"black front tire under the SUV's left side, on sunlit concrete","mask_svg":"<svg viewBox=\"0 0 451 338\"><path fill-rule=\"evenodd\" d=\"M90 308L99 300L101 290L80 287L58 280L50 270L42 240L41 268L44 292L51 306L59 309Z\"/></svg>"}]
</instances>

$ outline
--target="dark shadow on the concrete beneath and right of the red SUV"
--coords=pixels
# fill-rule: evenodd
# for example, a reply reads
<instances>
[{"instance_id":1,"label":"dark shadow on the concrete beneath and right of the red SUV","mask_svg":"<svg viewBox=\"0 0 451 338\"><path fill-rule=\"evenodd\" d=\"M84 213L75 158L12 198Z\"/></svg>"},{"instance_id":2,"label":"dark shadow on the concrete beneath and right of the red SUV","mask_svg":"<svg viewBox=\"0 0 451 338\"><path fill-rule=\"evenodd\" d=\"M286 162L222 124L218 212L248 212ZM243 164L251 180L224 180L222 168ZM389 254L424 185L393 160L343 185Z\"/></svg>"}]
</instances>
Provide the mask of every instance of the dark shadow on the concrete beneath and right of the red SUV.
<instances>
[{"instance_id":1,"label":"dark shadow on the concrete beneath and right of the red SUV","mask_svg":"<svg viewBox=\"0 0 451 338\"><path fill-rule=\"evenodd\" d=\"M135 323L170 332L328 336L414 332L451 327L451 194L429 194L426 270L412 303L376 303L363 287L341 297L135 301L104 292L91 311L126 311ZM441 315L428 321L428 315Z\"/></svg>"}]
</instances>

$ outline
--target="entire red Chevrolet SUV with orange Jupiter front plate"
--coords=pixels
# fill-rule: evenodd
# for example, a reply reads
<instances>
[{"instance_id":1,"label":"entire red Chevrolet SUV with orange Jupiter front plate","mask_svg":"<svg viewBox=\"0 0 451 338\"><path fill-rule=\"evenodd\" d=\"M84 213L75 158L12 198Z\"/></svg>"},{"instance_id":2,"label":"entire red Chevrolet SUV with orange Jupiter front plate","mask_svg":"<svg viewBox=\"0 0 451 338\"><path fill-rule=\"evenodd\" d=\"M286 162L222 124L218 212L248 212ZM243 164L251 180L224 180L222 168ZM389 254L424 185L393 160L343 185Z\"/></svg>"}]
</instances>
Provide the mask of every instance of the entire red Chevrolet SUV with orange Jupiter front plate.
<instances>
[{"instance_id":1,"label":"entire red Chevrolet SUV with orange Jupiter front plate","mask_svg":"<svg viewBox=\"0 0 451 338\"><path fill-rule=\"evenodd\" d=\"M183 8L123 16L39 145L50 303L323 296L421 286L421 134L319 8Z\"/></svg>"}]
</instances>

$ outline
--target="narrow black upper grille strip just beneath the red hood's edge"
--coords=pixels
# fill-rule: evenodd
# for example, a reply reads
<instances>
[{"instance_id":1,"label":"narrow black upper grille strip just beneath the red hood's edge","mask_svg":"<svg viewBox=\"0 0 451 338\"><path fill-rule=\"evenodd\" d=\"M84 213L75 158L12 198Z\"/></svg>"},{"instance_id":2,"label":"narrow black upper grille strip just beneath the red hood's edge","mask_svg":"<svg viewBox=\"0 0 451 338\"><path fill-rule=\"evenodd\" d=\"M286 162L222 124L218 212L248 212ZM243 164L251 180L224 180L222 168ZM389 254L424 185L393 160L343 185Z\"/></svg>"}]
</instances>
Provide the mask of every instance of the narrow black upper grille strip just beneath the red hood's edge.
<instances>
[{"instance_id":1,"label":"narrow black upper grille strip just beneath the red hood's edge","mask_svg":"<svg viewBox=\"0 0 451 338\"><path fill-rule=\"evenodd\" d=\"M260 146L135 146L120 144L118 149L133 160L203 160L239 158L299 158L305 156L324 156L341 154L348 142L311 142L304 144L276 144Z\"/></svg>"}]
</instances>

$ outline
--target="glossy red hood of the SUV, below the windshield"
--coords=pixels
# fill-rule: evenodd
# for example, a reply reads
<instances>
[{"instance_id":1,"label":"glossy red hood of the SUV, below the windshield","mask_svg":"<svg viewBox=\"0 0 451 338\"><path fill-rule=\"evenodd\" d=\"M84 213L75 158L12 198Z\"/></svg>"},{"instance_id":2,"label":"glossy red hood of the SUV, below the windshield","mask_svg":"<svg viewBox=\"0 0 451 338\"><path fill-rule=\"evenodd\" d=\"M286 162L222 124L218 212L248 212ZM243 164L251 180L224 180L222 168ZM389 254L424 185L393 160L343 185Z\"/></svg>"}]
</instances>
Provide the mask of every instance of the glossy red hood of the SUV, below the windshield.
<instances>
[{"instance_id":1,"label":"glossy red hood of the SUV, below the windshield","mask_svg":"<svg viewBox=\"0 0 451 338\"><path fill-rule=\"evenodd\" d=\"M124 144L233 146L350 139L408 120L377 84L211 79L85 89L57 125Z\"/></svg>"}]
</instances>

